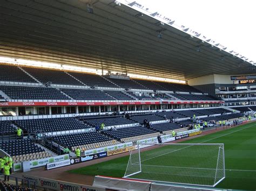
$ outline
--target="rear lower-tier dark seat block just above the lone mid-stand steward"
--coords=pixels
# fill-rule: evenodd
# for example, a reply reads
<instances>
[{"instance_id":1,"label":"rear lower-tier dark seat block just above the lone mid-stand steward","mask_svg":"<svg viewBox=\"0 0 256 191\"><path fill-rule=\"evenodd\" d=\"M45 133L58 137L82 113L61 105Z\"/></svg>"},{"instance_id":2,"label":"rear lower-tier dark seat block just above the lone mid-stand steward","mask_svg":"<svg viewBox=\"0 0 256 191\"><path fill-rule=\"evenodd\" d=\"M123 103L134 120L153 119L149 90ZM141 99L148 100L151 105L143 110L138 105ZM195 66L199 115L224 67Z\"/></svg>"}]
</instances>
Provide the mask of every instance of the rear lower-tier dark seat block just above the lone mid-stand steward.
<instances>
[{"instance_id":1,"label":"rear lower-tier dark seat block just above the lone mid-stand steward","mask_svg":"<svg viewBox=\"0 0 256 191\"><path fill-rule=\"evenodd\" d=\"M104 123L105 126L112 125L124 125L135 123L129 119L126 119L121 116L112 116L112 117L83 117L79 116L79 119L83 120L84 123L89 124L91 126L100 126Z\"/></svg>"}]
</instances>

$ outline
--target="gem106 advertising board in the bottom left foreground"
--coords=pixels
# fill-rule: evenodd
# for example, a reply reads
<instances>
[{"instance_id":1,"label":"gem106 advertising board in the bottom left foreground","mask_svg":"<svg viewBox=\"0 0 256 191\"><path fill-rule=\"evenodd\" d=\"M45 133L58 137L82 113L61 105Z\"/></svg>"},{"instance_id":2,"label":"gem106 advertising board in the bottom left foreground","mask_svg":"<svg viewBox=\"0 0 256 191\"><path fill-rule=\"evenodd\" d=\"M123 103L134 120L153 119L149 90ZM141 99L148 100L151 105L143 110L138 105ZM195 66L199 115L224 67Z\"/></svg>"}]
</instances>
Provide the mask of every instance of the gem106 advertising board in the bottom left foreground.
<instances>
[{"instance_id":1,"label":"gem106 advertising board in the bottom left foreground","mask_svg":"<svg viewBox=\"0 0 256 191\"><path fill-rule=\"evenodd\" d=\"M25 181L36 182L37 187L51 189L51 190L72 190L72 191L105 191L105 188L98 188L95 186L80 185L77 183L46 179L37 176L23 175Z\"/></svg>"}]
</instances>

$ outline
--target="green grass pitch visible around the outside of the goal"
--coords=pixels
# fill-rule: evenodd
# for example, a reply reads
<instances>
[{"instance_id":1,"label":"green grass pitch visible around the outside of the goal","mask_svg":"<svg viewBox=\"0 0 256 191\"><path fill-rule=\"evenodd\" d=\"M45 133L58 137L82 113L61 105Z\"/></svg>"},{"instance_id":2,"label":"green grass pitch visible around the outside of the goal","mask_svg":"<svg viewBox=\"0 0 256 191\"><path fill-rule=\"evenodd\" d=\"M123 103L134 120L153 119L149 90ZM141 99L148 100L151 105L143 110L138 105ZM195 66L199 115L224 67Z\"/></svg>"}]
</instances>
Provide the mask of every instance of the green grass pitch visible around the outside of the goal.
<instances>
[{"instance_id":1,"label":"green grass pitch visible around the outside of the goal","mask_svg":"<svg viewBox=\"0 0 256 191\"><path fill-rule=\"evenodd\" d=\"M256 122L194 138L182 143L202 142L224 143L226 178L217 185L218 188L256 189ZM123 177L128 160L129 156L126 156L74 169L69 172L93 176ZM152 179L156 179L156 174L152 173L151 175Z\"/></svg>"}]
</instances>

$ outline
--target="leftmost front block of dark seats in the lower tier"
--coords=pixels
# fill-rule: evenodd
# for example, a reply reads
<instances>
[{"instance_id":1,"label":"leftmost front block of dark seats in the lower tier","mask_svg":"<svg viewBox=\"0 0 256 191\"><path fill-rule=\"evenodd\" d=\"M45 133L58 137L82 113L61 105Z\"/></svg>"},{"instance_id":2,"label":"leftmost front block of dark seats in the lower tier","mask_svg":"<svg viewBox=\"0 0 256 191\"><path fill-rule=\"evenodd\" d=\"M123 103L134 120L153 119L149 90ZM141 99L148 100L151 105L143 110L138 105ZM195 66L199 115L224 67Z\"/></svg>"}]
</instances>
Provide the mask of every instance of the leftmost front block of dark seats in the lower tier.
<instances>
[{"instance_id":1,"label":"leftmost front block of dark seats in the lower tier","mask_svg":"<svg viewBox=\"0 0 256 191\"><path fill-rule=\"evenodd\" d=\"M43 152L41 147L34 144L31 139L17 139L8 142L1 142L0 148L11 156Z\"/></svg>"}]
</instances>

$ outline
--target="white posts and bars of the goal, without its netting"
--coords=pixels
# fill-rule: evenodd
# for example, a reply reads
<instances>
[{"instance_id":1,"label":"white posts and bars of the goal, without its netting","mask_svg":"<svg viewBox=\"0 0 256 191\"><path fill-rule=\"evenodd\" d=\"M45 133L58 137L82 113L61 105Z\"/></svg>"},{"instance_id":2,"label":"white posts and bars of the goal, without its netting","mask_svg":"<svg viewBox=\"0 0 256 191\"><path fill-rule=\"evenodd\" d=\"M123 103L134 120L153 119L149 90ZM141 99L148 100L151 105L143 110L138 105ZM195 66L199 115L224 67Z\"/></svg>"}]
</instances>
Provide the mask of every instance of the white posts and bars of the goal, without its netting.
<instances>
[{"instance_id":1,"label":"white posts and bars of the goal, without its netting","mask_svg":"<svg viewBox=\"0 0 256 191\"><path fill-rule=\"evenodd\" d=\"M199 185L199 184L193 184L193 183L179 183L179 182L167 182L167 181L157 181L157 180L152 180L152 182L169 183L169 184L173 184L173 185L187 185L187 186L199 186L199 187L215 187L215 186L218 185L218 183L220 183L221 181L223 181L226 178L226 172L225 172L225 152L224 152L224 144L223 143L213 143L213 144L211 144L211 143L208 143L208 144L205 144L205 143L202 143L202 144L200 144L200 143L191 143L191 144L190 143L184 143L184 144L181 144L181 143L139 143L139 144L137 144L138 156L139 156L139 171L138 172L134 172L134 173L129 174L129 175L126 175L126 176L123 176L123 178L125 178L125 179L150 181L148 179L130 178L130 176L135 175L135 174L139 174L139 173L142 172L142 162L141 162L141 158L140 158L140 152L141 152L141 150L142 151L145 150L144 149L145 147L140 148L139 145L148 145L148 146L146 146L146 148L150 147L150 146L157 146L157 145L158 146L160 146L160 145L163 145L163 146L164 145L188 145L187 147L193 146L193 145L218 145L218 146L220 146L219 147L219 151L218 151L218 155L220 155L220 148L222 147L222 150L223 150L223 171L224 171L224 176L223 176L223 178L221 178L217 182L215 182L215 180L214 180L214 182L215 182L214 185ZM185 147L185 148L187 148L187 147ZM154 149L154 148L152 148L152 149ZM180 150L181 149L183 149L183 148L180 148ZM129 167L129 162L130 162L131 155L132 155L133 151L136 151L136 150L129 150L130 157L129 157L129 161L128 161L128 164L127 164L127 167L126 167L125 174L126 174L127 169ZM174 151L174 152L176 152L176 151ZM217 159L217 166L216 166L215 178L214 179L216 179L216 175L217 175L218 160L219 160L219 157Z\"/></svg>"}]
</instances>

